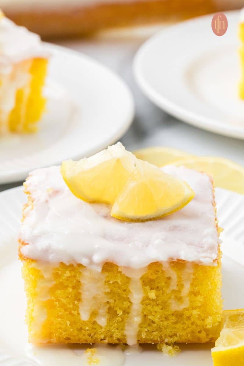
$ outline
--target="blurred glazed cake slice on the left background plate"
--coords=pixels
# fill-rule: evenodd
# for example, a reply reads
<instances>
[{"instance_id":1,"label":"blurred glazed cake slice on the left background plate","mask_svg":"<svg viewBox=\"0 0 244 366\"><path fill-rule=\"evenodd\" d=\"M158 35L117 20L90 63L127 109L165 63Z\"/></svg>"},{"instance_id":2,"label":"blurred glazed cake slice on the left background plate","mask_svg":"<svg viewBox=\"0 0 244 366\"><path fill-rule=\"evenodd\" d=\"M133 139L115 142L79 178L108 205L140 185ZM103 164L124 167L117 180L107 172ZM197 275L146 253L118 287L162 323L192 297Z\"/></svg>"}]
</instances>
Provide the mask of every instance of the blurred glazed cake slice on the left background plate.
<instances>
[{"instance_id":1,"label":"blurred glazed cake slice on the left background plate","mask_svg":"<svg viewBox=\"0 0 244 366\"><path fill-rule=\"evenodd\" d=\"M37 34L0 12L0 133L37 130L48 56Z\"/></svg>"}]
</instances>

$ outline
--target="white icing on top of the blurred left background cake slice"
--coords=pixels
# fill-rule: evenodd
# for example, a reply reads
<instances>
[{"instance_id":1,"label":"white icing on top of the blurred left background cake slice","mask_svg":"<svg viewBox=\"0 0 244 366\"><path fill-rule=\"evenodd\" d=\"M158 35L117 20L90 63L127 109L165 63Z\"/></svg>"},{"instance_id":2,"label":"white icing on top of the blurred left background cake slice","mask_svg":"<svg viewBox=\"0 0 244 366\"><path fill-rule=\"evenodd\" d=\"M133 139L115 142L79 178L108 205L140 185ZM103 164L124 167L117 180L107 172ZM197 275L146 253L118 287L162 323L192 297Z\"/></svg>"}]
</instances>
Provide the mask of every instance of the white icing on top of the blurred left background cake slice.
<instances>
[{"instance_id":1,"label":"white icing on top of the blurred left background cake slice","mask_svg":"<svg viewBox=\"0 0 244 366\"><path fill-rule=\"evenodd\" d=\"M49 57L40 37L8 18L0 19L0 74L11 72L11 64L33 57Z\"/></svg>"}]
</instances>

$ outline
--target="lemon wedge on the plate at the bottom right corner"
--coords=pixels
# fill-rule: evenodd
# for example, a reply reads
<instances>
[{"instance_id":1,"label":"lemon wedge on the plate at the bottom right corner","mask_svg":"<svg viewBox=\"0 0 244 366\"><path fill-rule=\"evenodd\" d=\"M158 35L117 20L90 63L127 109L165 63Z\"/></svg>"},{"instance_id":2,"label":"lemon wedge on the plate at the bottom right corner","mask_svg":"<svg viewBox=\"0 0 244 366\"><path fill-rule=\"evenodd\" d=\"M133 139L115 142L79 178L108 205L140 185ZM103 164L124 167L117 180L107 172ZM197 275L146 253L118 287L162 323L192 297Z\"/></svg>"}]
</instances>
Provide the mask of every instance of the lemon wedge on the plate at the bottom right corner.
<instances>
[{"instance_id":1,"label":"lemon wedge on the plate at the bottom right corner","mask_svg":"<svg viewBox=\"0 0 244 366\"><path fill-rule=\"evenodd\" d=\"M223 314L224 326L211 350L214 366L244 365L244 309Z\"/></svg>"}]
</instances>

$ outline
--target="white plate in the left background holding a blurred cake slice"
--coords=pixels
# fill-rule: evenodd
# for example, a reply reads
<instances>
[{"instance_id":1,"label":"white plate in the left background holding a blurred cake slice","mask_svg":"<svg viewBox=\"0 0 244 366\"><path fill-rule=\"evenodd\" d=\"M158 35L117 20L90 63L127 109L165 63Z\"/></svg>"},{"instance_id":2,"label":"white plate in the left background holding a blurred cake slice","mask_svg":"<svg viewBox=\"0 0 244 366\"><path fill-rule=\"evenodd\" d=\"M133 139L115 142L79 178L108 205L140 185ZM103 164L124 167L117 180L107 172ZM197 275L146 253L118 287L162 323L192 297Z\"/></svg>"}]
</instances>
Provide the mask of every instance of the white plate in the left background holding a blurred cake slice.
<instances>
[{"instance_id":1,"label":"white plate in the left background holding a blurred cake slice","mask_svg":"<svg viewBox=\"0 0 244 366\"><path fill-rule=\"evenodd\" d=\"M132 94L119 76L82 53L45 46L53 54L47 112L37 134L0 137L0 184L104 149L124 134L134 116Z\"/></svg>"}]
</instances>

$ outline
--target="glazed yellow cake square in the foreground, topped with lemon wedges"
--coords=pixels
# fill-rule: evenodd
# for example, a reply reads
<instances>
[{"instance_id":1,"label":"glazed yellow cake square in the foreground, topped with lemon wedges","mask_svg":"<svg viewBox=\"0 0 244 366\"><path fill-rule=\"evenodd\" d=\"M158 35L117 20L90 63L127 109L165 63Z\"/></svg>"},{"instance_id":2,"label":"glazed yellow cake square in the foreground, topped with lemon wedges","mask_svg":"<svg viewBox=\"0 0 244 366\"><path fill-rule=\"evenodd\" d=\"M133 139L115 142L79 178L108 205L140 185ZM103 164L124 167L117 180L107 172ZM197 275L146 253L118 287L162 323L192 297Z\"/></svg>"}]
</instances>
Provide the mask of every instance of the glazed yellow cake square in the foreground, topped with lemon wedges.
<instances>
[{"instance_id":1,"label":"glazed yellow cake square in the foreground, topped with lemon wedges","mask_svg":"<svg viewBox=\"0 0 244 366\"><path fill-rule=\"evenodd\" d=\"M105 181L111 172L121 181L140 164L136 159L127 164L123 154L116 160L113 148L108 150L110 167L108 153L74 163L74 176L83 182L79 194L86 191L88 180L95 191L102 174ZM70 190L75 179L65 176L69 188L59 167L30 173L19 240L30 342L132 345L217 339L222 318L221 252L213 182L185 167L152 169L165 180L158 202L163 195L167 201L171 194L179 194L180 184L184 189L190 186L195 196L172 214L142 222L116 219L110 204L76 197L78 187L75 194ZM144 176L145 170L140 173ZM129 179L129 187L135 188L136 180ZM111 177L109 181L114 183ZM133 205L139 212L148 198L143 192L151 189L153 197L155 187L145 180L140 189L136 187L139 207ZM110 196L114 188L109 186ZM108 201L104 188L102 195ZM132 195L128 197L130 204ZM88 194L86 200L91 201Z\"/></svg>"}]
</instances>

